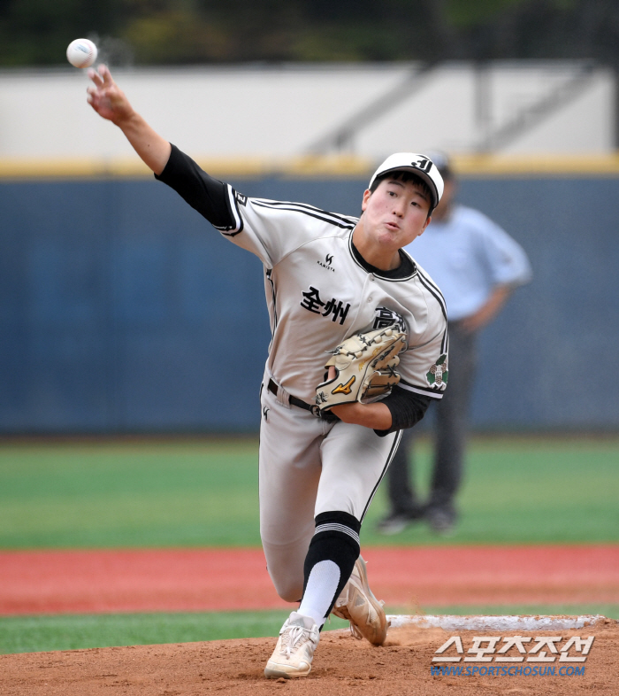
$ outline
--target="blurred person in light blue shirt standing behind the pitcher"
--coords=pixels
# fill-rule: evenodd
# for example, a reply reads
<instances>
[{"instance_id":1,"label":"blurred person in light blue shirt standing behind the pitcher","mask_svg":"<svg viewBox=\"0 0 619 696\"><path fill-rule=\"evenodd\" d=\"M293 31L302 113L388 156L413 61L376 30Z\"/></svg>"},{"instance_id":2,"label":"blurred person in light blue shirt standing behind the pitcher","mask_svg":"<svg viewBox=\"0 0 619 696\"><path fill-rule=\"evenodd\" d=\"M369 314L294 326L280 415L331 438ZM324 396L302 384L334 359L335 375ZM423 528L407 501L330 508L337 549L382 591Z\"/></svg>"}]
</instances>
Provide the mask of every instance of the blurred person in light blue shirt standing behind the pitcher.
<instances>
[{"instance_id":1,"label":"blurred person in light blue shirt standing behind the pitcher","mask_svg":"<svg viewBox=\"0 0 619 696\"><path fill-rule=\"evenodd\" d=\"M434 461L429 499L416 497L409 472L413 429L402 432L388 469L389 514L378 531L397 534L426 520L432 530L447 534L457 521L455 495L462 482L470 393L477 362L478 336L501 312L512 291L531 281L531 264L523 248L493 220L455 203L452 166L442 153L432 153L445 191L423 236L406 251L432 276L447 302L449 389L434 407Z\"/></svg>"}]
</instances>

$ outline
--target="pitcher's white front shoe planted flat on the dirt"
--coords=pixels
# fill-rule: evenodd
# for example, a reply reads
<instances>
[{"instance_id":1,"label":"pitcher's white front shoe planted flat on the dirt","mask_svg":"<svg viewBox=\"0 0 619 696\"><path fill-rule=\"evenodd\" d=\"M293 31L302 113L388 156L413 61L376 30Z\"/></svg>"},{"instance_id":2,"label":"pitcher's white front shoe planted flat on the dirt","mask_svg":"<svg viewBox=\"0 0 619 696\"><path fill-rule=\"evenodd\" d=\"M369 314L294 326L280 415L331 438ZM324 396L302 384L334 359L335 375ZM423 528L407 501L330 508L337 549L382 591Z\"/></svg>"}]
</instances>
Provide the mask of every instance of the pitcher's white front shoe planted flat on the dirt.
<instances>
[{"instance_id":1,"label":"pitcher's white front shoe planted flat on the dirt","mask_svg":"<svg viewBox=\"0 0 619 696\"><path fill-rule=\"evenodd\" d=\"M264 668L264 677L307 677L320 639L317 623L293 612L279 631L278 644Z\"/></svg>"}]
</instances>

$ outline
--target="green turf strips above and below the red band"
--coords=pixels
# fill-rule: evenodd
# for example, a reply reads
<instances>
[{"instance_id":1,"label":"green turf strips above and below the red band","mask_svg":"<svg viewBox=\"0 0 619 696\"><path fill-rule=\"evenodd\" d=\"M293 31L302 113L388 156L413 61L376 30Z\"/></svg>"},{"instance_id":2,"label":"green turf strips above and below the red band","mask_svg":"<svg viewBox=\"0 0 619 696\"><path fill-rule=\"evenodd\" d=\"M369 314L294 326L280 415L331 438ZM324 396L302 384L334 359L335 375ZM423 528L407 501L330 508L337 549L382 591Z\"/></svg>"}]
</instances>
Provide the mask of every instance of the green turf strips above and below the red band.
<instances>
[{"instance_id":1,"label":"green turf strips above and below the red band","mask_svg":"<svg viewBox=\"0 0 619 696\"><path fill-rule=\"evenodd\" d=\"M427 488L430 445L417 447ZM470 444L451 537L423 524L363 545L619 542L619 437L487 437ZM0 548L259 545L257 442L134 440L0 444ZM424 607L441 614L580 614L619 606ZM398 612L392 607L392 613ZM0 653L276 635L281 612L0 618ZM332 623L339 628L343 623Z\"/></svg>"}]
</instances>

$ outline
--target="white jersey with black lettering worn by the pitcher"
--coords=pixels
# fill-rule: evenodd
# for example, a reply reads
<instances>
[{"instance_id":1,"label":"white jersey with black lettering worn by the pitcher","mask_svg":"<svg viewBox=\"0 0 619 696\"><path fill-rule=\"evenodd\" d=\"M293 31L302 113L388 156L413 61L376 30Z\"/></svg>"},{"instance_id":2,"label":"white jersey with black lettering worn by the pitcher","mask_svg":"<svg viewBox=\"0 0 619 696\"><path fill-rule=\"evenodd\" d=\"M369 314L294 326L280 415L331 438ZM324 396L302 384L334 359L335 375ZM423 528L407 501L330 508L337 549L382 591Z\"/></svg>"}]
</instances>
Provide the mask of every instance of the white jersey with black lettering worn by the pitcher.
<instances>
[{"instance_id":1,"label":"white jersey with black lettering worn by the pitcher","mask_svg":"<svg viewBox=\"0 0 619 696\"><path fill-rule=\"evenodd\" d=\"M410 260L410 273L363 264L352 244L357 218L311 205L250 198L228 185L235 218L222 235L264 264L271 318L267 369L297 398L313 403L325 362L348 336L406 322L409 348L400 354L400 386L441 398L447 382L447 315L431 278ZM403 252L402 252L403 253ZM370 267L371 268L371 267Z\"/></svg>"}]
</instances>

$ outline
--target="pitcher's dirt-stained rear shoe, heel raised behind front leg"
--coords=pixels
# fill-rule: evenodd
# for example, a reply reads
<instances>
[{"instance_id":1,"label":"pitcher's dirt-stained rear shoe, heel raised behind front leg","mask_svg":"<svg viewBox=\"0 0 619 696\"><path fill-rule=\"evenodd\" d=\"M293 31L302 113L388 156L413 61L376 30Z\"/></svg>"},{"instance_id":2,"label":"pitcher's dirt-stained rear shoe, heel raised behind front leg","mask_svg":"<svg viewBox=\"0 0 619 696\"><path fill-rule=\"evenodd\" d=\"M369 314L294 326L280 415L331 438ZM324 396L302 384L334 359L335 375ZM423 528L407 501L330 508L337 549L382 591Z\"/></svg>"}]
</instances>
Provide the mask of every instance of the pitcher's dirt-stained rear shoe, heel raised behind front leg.
<instances>
[{"instance_id":1,"label":"pitcher's dirt-stained rear shoe, heel raised behind front leg","mask_svg":"<svg viewBox=\"0 0 619 696\"><path fill-rule=\"evenodd\" d=\"M382 646L385 642L388 625L385 609L371 592L361 556L356 560L352 575L331 613L350 622L355 638L365 638L374 646Z\"/></svg>"}]
</instances>

